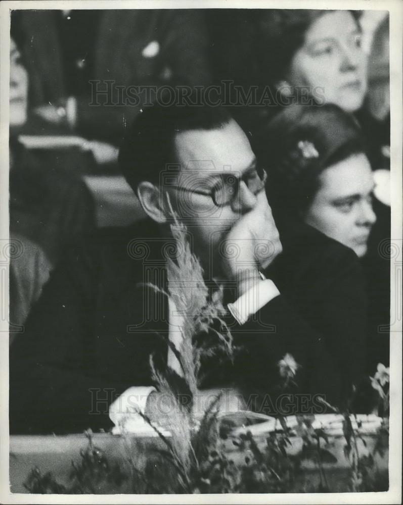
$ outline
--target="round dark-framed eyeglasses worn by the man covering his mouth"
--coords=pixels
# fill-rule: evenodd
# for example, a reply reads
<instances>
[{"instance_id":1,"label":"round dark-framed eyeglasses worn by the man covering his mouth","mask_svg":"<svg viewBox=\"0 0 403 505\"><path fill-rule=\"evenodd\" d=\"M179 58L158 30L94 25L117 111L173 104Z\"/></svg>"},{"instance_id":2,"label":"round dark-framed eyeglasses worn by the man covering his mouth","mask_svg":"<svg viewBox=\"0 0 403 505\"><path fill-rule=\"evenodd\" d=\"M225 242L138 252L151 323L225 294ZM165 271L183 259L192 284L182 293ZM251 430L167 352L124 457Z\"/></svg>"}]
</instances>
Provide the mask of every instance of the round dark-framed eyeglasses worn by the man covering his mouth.
<instances>
[{"instance_id":1,"label":"round dark-framed eyeglasses worn by the man covering his mouth","mask_svg":"<svg viewBox=\"0 0 403 505\"><path fill-rule=\"evenodd\" d=\"M225 207L231 205L239 194L241 181L245 182L249 191L256 195L264 189L267 181L267 173L263 168L256 167L249 170L241 177L237 177L234 174L221 174L219 181L210 190L206 191L201 189L190 189L179 185L173 185L171 187L187 193L210 196L216 207Z\"/></svg>"}]
</instances>

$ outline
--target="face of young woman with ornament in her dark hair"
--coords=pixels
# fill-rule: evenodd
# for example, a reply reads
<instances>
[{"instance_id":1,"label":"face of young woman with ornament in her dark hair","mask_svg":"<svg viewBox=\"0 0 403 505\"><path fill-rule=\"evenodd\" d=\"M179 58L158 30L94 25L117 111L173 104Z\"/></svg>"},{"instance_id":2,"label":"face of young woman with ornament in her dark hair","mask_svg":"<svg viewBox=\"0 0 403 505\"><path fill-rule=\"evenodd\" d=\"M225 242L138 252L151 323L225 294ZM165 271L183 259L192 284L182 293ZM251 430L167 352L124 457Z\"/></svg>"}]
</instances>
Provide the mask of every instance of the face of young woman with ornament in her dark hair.
<instances>
[{"instance_id":1,"label":"face of young woman with ornament in her dark hair","mask_svg":"<svg viewBox=\"0 0 403 505\"><path fill-rule=\"evenodd\" d=\"M325 169L305 222L350 247L361 258L376 216L372 210L374 180L364 154Z\"/></svg>"}]
</instances>

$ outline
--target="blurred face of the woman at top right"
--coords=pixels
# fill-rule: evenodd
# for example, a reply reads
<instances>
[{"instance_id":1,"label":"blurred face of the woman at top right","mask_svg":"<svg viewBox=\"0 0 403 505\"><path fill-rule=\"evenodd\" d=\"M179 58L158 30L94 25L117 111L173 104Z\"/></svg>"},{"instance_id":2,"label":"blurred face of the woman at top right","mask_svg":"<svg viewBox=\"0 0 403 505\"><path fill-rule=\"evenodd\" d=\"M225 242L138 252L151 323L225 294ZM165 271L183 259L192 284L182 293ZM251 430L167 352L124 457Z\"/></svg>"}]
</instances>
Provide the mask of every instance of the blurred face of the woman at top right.
<instances>
[{"instance_id":1,"label":"blurred face of the woman at top right","mask_svg":"<svg viewBox=\"0 0 403 505\"><path fill-rule=\"evenodd\" d=\"M309 26L286 77L346 112L360 109L367 92L367 57L349 11L323 14Z\"/></svg>"}]
</instances>

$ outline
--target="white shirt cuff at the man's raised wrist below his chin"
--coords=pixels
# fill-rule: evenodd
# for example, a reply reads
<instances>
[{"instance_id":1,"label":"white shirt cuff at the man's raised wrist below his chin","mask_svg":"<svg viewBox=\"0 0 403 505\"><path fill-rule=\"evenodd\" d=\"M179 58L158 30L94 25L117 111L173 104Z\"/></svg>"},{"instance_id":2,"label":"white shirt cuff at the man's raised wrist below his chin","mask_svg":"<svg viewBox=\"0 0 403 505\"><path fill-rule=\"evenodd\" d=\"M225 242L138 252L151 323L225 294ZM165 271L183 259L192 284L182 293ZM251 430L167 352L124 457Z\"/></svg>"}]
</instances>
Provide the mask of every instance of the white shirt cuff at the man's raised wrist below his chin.
<instances>
[{"instance_id":1,"label":"white shirt cuff at the man's raised wrist below his chin","mask_svg":"<svg viewBox=\"0 0 403 505\"><path fill-rule=\"evenodd\" d=\"M233 304L228 304L228 310L240 325L245 324L252 314L268 304L280 291L271 279L257 282Z\"/></svg>"}]
</instances>

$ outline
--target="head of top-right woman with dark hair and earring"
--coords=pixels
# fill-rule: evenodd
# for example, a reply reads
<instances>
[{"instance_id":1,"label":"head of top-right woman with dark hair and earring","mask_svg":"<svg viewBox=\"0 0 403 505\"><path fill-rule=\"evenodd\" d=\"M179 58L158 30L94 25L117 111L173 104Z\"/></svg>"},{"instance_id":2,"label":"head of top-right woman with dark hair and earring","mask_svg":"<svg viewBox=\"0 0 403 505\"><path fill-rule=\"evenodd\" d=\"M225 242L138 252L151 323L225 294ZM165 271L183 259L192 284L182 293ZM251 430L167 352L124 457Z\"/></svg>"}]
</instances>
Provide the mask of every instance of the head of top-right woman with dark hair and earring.
<instances>
[{"instance_id":1,"label":"head of top-right woman with dark hair and earring","mask_svg":"<svg viewBox=\"0 0 403 505\"><path fill-rule=\"evenodd\" d=\"M320 104L361 109L368 79L359 18L360 11L265 11L257 24L259 71L284 105L305 88Z\"/></svg>"}]
</instances>

